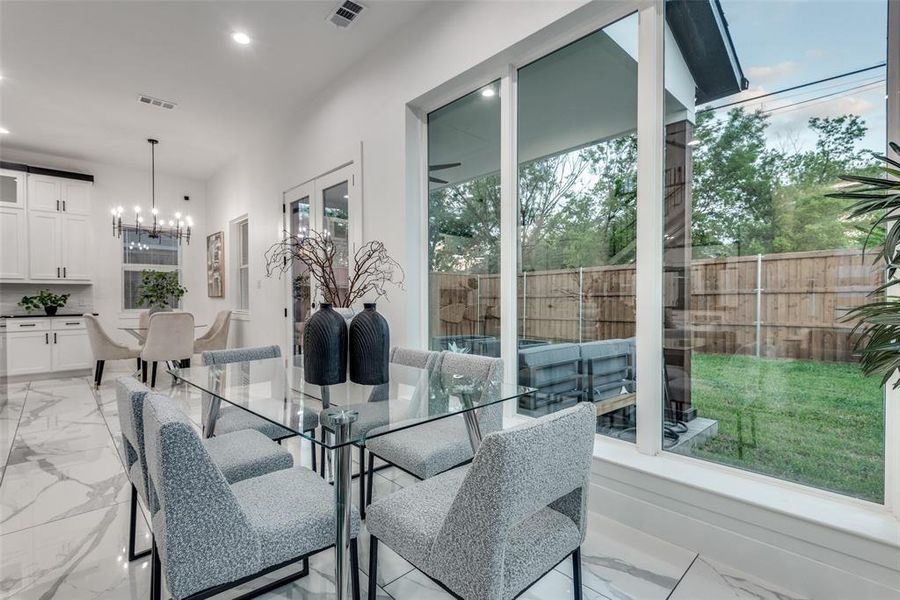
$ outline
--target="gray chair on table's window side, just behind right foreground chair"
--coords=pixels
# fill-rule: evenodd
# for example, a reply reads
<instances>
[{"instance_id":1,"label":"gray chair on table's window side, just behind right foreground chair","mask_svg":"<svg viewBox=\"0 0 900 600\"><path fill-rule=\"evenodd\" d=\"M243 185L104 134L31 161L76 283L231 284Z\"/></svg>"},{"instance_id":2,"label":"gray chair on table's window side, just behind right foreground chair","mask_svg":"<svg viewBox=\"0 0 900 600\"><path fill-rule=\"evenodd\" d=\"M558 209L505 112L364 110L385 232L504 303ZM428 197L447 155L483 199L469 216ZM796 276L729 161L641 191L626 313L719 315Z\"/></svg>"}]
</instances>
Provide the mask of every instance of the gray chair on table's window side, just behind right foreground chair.
<instances>
[{"instance_id":1,"label":"gray chair on table's window side, just behind right foreground chair","mask_svg":"<svg viewBox=\"0 0 900 600\"><path fill-rule=\"evenodd\" d=\"M427 360L415 352L404 350L398 358L419 361L420 364L422 360ZM503 381L503 360L499 358L445 351L431 360L436 372L470 377L473 382L482 383L480 387L485 393L490 393L491 384ZM503 426L502 405L478 409L478 421L483 435L500 429ZM473 454L462 415L373 437L366 441L366 450L369 453L366 465L367 504L372 501L372 473L376 457L419 479L428 479L471 460Z\"/></svg>"}]
</instances>

